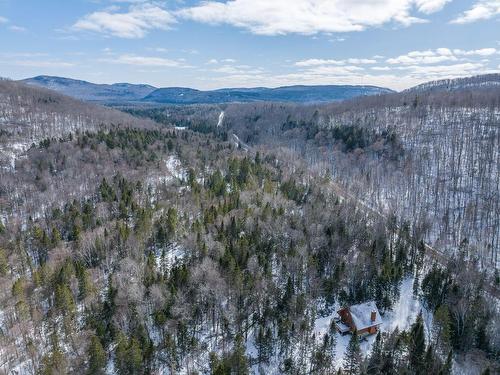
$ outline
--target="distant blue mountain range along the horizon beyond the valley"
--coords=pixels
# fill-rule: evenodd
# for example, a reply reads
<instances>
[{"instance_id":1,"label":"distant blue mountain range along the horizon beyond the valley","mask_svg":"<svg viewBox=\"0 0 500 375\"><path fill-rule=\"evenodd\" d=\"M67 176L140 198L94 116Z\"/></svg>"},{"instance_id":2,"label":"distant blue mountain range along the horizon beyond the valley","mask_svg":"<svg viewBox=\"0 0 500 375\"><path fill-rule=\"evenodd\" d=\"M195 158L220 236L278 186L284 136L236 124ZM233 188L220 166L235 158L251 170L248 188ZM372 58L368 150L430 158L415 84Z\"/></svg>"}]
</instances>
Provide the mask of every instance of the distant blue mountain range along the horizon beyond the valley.
<instances>
[{"instance_id":1,"label":"distant blue mountain range along the horizon beyond the valley","mask_svg":"<svg viewBox=\"0 0 500 375\"><path fill-rule=\"evenodd\" d=\"M393 92L377 86L349 85L227 88L201 91L184 87L156 88L129 83L95 84L51 76L28 78L23 82L55 90L77 99L104 103L210 104L258 101L321 103Z\"/></svg>"}]
</instances>

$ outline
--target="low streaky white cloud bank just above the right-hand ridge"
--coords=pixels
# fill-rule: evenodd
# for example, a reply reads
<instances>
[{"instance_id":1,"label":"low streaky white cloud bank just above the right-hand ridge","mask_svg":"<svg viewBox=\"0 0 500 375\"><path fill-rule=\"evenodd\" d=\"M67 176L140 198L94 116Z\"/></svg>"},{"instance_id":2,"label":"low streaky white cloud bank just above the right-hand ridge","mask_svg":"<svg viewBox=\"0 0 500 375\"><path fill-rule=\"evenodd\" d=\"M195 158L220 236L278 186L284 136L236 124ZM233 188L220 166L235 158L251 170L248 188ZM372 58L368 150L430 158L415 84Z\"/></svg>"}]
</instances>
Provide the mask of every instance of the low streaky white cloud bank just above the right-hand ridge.
<instances>
[{"instance_id":1,"label":"low streaky white cloud bank just above the right-hand ridge","mask_svg":"<svg viewBox=\"0 0 500 375\"><path fill-rule=\"evenodd\" d=\"M293 64L295 70L269 80L280 84L373 84L402 89L418 83L498 72L496 48L474 50L437 48L410 51L400 56L372 58L307 59ZM387 63L387 65L382 64Z\"/></svg>"}]
</instances>

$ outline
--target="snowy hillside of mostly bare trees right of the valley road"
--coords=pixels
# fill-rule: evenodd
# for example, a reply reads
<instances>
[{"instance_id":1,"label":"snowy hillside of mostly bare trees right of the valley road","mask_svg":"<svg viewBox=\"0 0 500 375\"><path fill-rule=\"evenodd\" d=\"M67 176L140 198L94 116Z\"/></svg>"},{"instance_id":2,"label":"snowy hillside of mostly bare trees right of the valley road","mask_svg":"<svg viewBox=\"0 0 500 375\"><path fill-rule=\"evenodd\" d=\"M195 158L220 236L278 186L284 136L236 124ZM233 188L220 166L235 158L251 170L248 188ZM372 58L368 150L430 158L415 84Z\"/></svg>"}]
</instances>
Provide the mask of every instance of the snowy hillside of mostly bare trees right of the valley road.
<instances>
[{"instance_id":1,"label":"snowy hillside of mostly bare trees right of the valley road","mask_svg":"<svg viewBox=\"0 0 500 375\"><path fill-rule=\"evenodd\" d=\"M480 77L479 77L480 78ZM499 267L500 89L366 97L326 106L276 103L128 109L246 145L283 147L383 215L415 221L440 251L471 245ZM462 82L462 80L459 80ZM463 80L466 81L466 80ZM458 83L456 84L458 85ZM217 117L224 112L223 127Z\"/></svg>"}]
</instances>

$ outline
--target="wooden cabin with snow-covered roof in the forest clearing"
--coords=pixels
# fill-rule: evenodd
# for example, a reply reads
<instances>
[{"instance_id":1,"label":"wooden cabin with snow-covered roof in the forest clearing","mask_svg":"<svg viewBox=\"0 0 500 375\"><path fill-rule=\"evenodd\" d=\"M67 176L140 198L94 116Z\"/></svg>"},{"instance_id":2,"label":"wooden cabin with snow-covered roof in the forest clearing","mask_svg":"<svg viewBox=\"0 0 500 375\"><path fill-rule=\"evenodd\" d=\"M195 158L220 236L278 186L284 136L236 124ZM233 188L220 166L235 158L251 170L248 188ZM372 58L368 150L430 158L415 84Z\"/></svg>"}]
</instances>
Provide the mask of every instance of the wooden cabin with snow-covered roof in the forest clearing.
<instances>
[{"instance_id":1,"label":"wooden cabin with snow-covered roof in the forest clearing","mask_svg":"<svg viewBox=\"0 0 500 375\"><path fill-rule=\"evenodd\" d=\"M337 311L337 330L345 335L356 332L358 335L373 335L379 331L382 317L374 301L344 307Z\"/></svg>"}]
</instances>

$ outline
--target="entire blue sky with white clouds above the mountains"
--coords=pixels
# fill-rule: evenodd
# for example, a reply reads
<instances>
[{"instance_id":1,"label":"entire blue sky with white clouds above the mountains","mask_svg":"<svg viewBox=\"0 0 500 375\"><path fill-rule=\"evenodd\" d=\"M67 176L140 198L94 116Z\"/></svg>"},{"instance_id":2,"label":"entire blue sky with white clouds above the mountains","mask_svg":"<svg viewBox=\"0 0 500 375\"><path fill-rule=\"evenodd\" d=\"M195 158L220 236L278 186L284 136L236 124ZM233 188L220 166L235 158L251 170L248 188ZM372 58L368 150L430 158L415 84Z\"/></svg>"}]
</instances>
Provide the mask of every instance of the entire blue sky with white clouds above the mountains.
<instances>
[{"instance_id":1,"label":"entire blue sky with white clouds above the mountains","mask_svg":"<svg viewBox=\"0 0 500 375\"><path fill-rule=\"evenodd\" d=\"M0 0L0 76L395 90L500 72L500 0Z\"/></svg>"}]
</instances>

